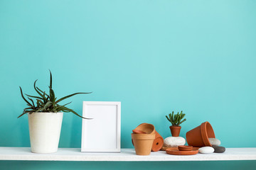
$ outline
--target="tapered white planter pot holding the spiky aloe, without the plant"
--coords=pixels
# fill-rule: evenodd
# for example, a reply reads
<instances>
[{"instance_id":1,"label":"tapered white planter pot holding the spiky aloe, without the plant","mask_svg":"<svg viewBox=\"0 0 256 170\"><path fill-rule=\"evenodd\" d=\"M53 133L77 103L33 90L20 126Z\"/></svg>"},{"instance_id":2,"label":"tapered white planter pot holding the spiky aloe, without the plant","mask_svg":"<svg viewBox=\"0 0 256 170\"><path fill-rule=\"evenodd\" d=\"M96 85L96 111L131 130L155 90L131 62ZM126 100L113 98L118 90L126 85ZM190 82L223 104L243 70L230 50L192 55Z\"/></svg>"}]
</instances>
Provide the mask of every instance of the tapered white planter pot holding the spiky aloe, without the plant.
<instances>
[{"instance_id":1,"label":"tapered white planter pot holding the spiky aloe, without the plant","mask_svg":"<svg viewBox=\"0 0 256 170\"><path fill-rule=\"evenodd\" d=\"M28 113L31 152L38 154L58 151L63 113Z\"/></svg>"}]
</instances>

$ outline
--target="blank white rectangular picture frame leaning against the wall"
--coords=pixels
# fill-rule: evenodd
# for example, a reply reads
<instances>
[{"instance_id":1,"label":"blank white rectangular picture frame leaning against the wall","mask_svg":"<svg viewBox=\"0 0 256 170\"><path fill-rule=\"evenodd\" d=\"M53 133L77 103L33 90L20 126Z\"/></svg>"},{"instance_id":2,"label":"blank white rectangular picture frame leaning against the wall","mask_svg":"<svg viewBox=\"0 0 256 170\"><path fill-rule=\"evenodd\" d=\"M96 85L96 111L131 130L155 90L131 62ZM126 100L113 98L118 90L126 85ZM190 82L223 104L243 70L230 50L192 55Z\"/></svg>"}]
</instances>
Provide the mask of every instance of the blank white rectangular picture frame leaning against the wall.
<instances>
[{"instance_id":1,"label":"blank white rectangular picture frame leaning against the wall","mask_svg":"<svg viewBox=\"0 0 256 170\"><path fill-rule=\"evenodd\" d=\"M120 152L121 102L83 101L81 152Z\"/></svg>"}]
</instances>

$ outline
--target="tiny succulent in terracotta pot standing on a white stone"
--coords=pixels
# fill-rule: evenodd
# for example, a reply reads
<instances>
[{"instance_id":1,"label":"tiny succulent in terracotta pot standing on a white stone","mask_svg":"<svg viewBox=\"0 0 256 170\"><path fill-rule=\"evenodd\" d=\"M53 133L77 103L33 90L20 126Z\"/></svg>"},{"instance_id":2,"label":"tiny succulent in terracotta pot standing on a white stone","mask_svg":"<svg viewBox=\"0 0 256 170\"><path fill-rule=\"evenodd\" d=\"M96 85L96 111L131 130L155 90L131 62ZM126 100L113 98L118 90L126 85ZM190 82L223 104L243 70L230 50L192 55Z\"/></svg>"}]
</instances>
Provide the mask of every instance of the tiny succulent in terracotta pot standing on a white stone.
<instances>
[{"instance_id":1,"label":"tiny succulent in terracotta pot standing on a white stone","mask_svg":"<svg viewBox=\"0 0 256 170\"><path fill-rule=\"evenodd\" d=\"M170 130L171 130L171 135L173 137L178 137L180 132L181 132L181 123L186 121L185 117L186 114L182 113L177 113L174 114L174 111L169 114L169 116L166 115L167 120L171 123Z\"/></svg>"}]
</instances>

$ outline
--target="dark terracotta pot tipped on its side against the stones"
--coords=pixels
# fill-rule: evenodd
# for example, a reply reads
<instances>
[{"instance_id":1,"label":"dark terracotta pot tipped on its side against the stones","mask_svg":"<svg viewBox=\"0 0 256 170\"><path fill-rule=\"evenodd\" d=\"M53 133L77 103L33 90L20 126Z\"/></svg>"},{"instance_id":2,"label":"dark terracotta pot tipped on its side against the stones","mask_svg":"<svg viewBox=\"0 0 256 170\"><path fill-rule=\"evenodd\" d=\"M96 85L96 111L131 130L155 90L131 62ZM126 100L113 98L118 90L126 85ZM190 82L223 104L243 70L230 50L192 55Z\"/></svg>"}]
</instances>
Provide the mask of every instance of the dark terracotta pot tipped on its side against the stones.
<instances>
[{"instance_id":1,"label":"dark terracotta pot tipped on its side against the stones","mask_svg":"<svg viewBox=\"0 0 256 170\"><path fill-rule=\"evenodd\" d=\"M186 133L188 145L193 147L211 147L208 138L215 138L215 134L210 123L205 122Z\"/></svg>"}]
</instances>

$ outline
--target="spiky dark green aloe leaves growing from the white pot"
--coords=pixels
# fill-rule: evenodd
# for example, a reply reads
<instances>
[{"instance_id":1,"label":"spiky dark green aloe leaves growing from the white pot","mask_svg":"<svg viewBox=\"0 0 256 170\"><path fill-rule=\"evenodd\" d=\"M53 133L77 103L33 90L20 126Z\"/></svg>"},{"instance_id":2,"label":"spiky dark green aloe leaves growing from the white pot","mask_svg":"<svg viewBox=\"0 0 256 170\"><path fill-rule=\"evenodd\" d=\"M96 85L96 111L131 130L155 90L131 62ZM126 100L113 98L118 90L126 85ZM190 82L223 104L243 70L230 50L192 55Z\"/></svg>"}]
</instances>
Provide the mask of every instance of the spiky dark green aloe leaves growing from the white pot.
<instances>
[{"instance_id":1,"label":"spiky dark green aloe leaves growing from the white pot","mask_svg":"<svg viewBox=\"0 0 256 170\"><path fill-rule=\"evenodd\" d=\"M36 80L36 81L38 81L38 80ZM71 112L71 113L74 113L75 115L78 115L80 118L84 118L81 115L79 115L78 113L76 113L75 111L73 111L72 109L66 107L66 105L70 104L71 102L66 103L64 105L60 105L59 102L65 100L66 98L70 98L71 96L75 96L77 94L90 94L92 92L75 93L75 94L70 94L63 98L57 99L55 97L55 93L53 91L53 77L52 77L51 72L50 72L50 86L48 86L49 94L46 94L46 91L42 91L41 89L39 89L36 86L36 81L33 84L33 88L35 89L38 96L31 96L31 95L25 94L28 97L28 99L26 99L23 96L23 91L20 86L21 97L27 103L28 108L24 108L23 113L21 115L19 115L18 118L20 118L22 115L24 115L26 113L31 114L31 113L37 113L37 112L51 112L51 113ZM33 99L36 101L33 101ZM90 119L90 118L84 118L84 119Z\"/></svg>"}]
</instances>

